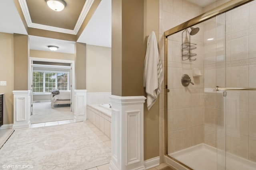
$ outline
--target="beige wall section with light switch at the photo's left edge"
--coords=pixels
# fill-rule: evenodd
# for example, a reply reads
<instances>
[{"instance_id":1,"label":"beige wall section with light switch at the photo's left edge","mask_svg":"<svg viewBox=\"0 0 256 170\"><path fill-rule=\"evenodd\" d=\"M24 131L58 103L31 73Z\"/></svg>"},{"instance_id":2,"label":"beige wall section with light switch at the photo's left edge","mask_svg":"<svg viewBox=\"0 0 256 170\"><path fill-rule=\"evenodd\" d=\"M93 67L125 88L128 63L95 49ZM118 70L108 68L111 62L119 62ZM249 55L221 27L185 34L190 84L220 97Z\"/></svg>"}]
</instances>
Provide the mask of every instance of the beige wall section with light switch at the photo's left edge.
<instances>
[{"instance_id":1,"label":"beige wall section with light switch at the photo's left edge","mask_svg":"<svg viewBox=\"0 0 256 170\"><path fill-rule=\"evenodd\" d=\"M6 86L0 86L0 93L4 93L4 124L13 123L13 41L13 34L0 33L0 81L7 83Z\"/></svg>"}]
</instances>

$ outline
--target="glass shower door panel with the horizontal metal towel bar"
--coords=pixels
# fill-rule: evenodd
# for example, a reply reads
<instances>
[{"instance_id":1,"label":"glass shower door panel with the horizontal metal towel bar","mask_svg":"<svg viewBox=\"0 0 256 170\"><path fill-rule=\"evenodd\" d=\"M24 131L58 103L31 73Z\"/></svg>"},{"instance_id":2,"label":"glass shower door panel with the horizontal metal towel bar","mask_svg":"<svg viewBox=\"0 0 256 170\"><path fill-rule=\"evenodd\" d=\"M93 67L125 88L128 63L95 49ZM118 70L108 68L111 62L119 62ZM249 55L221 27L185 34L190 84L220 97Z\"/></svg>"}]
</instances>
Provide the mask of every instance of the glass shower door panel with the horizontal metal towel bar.
<instances>
[{"instance_id":1,"label":"glass shower door panel with the horizontal metal towel bar","mask_svg":"<svg viewBox=\"0 0 256 170\"><path fill-rule=\"evenodd\" d=\"M226 84L216 92L218 170L256 170L256 2L226 12ZM218 80L218 78L217 78Z\"/></svg>"}]
</instances>

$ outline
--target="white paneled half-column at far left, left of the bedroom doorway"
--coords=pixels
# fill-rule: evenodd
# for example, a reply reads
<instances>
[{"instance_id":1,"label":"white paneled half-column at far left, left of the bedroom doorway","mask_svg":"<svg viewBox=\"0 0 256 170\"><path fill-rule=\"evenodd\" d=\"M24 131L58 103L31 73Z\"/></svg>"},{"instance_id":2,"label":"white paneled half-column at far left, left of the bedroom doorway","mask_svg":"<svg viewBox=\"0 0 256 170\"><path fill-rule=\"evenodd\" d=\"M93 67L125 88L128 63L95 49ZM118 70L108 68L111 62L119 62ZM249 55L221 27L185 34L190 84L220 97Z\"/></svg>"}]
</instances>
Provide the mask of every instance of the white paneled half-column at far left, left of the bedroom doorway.
<instances>
[{"instance_id":1,"label":"white paneled half-column at far left, left of the bedroom doorway","mask_svg":"<svg viewBox=\"0 0 256 170\"><path fill-rule=\"evenodd\" d=\"M30 90L14 90L12 128L30 127Z\"/></svg>"}]
</instances>

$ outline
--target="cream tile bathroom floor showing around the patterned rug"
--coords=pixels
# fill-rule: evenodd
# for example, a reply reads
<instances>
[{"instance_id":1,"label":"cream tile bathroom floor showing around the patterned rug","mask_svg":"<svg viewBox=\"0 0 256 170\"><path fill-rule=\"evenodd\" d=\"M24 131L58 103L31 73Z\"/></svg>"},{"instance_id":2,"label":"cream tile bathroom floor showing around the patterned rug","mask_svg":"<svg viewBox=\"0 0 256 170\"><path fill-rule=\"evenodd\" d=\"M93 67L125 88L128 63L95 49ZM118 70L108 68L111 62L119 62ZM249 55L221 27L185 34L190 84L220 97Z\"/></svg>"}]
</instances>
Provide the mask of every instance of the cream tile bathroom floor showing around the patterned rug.
<instances>
[{"instance_id":1,"label":"cream tile bathroom floor showing around the patterned rug","mask_svg":"<svg viewBox=\"0 0 256 170\"><path fill-rule=\"evenodd\" d=\"M100 129L98 129L94 124L92 124L90 121L86 120L84 121L88 127L94 131L94 133L111 149L111 140L108 138ZM35 128L35 127L44 127L44 126L53 126L53 125L62 125L67 123L74 123L74 120L64 120L64 121L53 121L53 122L45 122L45 123L35 123L30 125L29 128ZM0 147L1 143L2 145L4 142L10 137L14 129L1 129L0 130ZM94 168L90 168L88 170L108 170L109 163L104 164L101 166L97 166ZM150 168L149 170L172 170L167 164L160 164L159 166L156 166L154 168Z\"/></svg>"}]
</instances>

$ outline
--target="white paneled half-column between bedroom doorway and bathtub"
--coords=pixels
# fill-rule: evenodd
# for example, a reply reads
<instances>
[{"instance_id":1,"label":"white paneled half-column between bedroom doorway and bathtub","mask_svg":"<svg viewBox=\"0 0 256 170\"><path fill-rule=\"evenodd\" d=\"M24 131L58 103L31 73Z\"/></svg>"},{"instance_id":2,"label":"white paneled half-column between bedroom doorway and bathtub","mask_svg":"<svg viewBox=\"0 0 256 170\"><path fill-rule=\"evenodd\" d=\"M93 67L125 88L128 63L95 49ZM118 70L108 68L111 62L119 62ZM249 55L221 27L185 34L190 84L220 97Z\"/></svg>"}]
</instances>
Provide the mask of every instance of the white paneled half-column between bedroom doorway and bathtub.
<instances>
[{"instance_id":1,"label":"white paneled half-column between bedroom doorway and bathtub","mask_svg":"<svg viewBox=\"0 0 256 170\"><path fill-rule=\"evenodd\" d=\"M74 121L86 120L86 92L87 90L74 90L75 104Z\"/></svg>"}]
</instances>

